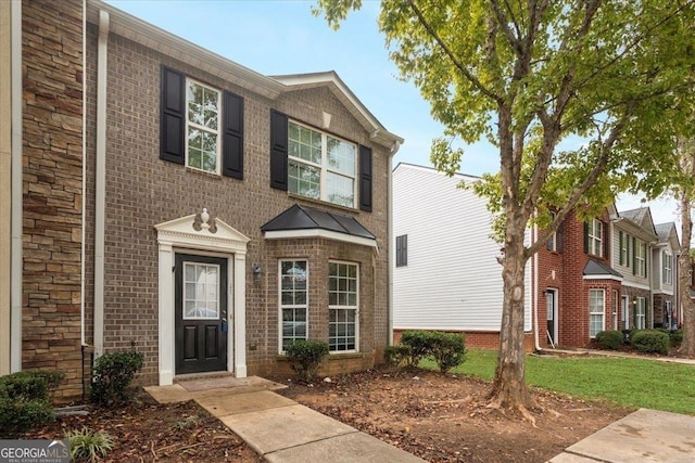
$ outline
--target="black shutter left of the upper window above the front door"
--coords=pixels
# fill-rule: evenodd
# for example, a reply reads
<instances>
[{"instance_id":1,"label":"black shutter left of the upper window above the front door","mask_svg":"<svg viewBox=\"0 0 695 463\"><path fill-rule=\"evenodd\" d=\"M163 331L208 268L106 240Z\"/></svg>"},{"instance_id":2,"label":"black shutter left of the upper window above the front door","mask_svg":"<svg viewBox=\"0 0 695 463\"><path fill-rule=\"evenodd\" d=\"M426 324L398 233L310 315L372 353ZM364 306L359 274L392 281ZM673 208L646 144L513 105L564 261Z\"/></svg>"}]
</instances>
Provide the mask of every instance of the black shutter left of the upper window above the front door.
<instances>
[{"instance_id":1,"label":"black shutter left of the upper window above the front door","mask_svg":"<svg viewBox=\"0 0 695 463\"><path fill-rule=\"evenodd\" d=\"M186 77L177 70L162 66L161 86L160 158L184 164L186 162L184 153Z\"/></svg>"}]
</instances>

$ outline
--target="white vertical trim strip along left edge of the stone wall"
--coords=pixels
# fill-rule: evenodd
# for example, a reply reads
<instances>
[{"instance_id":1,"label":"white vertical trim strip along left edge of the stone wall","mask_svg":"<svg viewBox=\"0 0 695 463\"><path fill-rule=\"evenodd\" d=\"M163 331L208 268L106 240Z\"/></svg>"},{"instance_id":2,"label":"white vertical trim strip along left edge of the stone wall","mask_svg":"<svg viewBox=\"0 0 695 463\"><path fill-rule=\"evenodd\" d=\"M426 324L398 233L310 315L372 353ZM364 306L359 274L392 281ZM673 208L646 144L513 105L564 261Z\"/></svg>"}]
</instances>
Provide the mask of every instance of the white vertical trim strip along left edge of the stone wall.
<instances>
[{"instance_id":1,"label":"white vertical trim strip along left edge of the stone wall","mask_svg":"<svg viewBox=\"0 0 695 463\"><path fill-rule=\"evenodd\" d=\"M12 206L10 233L10 371L22 371L22 2L10 5Z\"/></svg>"}]
</instances>

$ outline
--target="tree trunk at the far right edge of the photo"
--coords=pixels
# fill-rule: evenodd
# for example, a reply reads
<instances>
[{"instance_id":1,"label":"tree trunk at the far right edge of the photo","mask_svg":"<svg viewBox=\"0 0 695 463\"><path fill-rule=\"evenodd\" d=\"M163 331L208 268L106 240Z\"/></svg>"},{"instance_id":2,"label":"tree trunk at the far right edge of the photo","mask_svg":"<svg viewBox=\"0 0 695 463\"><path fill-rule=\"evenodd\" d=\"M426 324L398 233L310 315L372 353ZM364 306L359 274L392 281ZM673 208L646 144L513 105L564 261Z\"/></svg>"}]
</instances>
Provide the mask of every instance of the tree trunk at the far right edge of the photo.
<instances>
[{"instance_id":1,"label":"tree trunk at the far right edge of the photo","mask_svg":"<svg viewBox=\"0 0 695 463\"><path fill-rule=\"evenodd\" d=\"M686 155L686 154L685 154ZM683 342L678 352L695 356L695 304L691 299L691 239L693 220L691 217L691 194L683 191L681 196L681 256L678 259L678 294L682 308Z\"/></svg>"}]
</instances>

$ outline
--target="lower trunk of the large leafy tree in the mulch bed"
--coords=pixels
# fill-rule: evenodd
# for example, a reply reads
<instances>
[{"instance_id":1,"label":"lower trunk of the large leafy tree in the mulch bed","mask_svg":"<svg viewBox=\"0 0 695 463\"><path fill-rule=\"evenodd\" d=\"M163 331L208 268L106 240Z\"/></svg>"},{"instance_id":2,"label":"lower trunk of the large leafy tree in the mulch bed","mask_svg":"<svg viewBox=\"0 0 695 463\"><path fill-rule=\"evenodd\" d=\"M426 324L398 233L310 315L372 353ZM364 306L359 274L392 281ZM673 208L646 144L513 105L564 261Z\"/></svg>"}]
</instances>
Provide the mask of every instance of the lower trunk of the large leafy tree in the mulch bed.
<instances>
[{"instance_id":1,"label":"lower trunk of the large leafy tree in the mulch bed","mask_svg":"<svg viewBox=\"0 0 695 463\"><path fill-rule=\"evenodd\" d=\"M507 220L504 257L502 258L504 303L500 331L500 353L489 399L491 407L516 409L533 422L527 410L533 403L525 380L525 223L520 218Z\"/></svg>"}]
</instances>

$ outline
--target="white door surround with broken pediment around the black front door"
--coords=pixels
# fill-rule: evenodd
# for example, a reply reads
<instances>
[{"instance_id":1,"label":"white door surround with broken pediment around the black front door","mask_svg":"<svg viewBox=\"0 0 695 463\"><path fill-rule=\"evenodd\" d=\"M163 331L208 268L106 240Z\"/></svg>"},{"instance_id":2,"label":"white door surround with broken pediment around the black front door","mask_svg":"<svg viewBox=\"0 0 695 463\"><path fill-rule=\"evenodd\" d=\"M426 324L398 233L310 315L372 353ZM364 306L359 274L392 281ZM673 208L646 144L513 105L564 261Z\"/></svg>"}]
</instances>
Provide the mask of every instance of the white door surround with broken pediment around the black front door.
<instances>
[{"instance_id":1,"label":"white door surround with broken pediment around the black front door","mask_svg":"<svg viewBox=\"0 0 695 463\"><path fill-rule=\"evenodd\" d=\"M198 227L193 223L198 217ZM200 215L190 215L154 226L159 243L159 363L160 386L174 384L176 350L174 343L175 254L216 255L227 258L228 343L227 371L247 376L245 261L249 239L219 219L215 227L200 226ZM231 306L231 307L229 307ZM230 309L230 310L229 310Z\"/></svg>"}]
</instances>

